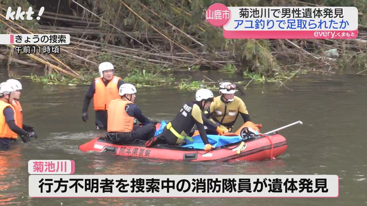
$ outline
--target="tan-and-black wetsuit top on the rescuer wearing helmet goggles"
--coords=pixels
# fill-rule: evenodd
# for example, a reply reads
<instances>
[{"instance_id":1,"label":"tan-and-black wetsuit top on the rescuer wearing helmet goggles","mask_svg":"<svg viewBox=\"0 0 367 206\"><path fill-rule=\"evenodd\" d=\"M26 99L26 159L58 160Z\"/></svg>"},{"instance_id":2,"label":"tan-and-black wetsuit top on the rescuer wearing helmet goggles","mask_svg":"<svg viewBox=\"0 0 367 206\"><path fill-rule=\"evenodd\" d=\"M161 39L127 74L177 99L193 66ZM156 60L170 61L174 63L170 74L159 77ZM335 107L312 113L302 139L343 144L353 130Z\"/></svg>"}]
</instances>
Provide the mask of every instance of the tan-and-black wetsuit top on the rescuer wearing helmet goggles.
<instances>
[{"instance_id":1,"label":"tan-and-black wetsuit top on the rescuer wearing helmet goggles","mask_svg":"<svg viewBox=\"0 0 367 206\"><path fill-rule=\"evenodd\" d=\"M204 117L209 118L210 116L210 121L220 128L226 130L231 128L239 114L241 114L244 123L251 121L246 105L239 97L235 96L232 102L224 102L222 96L218 96L215 99L220 99L220 101L214 101L210 105L209 114L204 114Z\"/></svg>"}]
</instances>

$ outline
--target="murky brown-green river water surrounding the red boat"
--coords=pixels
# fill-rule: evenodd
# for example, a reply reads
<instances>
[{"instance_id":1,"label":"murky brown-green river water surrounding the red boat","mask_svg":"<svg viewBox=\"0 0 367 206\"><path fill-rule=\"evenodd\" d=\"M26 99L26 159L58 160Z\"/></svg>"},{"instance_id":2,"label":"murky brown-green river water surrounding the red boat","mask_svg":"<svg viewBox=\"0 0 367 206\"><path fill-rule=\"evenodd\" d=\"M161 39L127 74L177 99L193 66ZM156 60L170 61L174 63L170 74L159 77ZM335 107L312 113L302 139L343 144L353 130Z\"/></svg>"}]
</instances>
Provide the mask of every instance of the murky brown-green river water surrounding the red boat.
<instances>
[{"instance_id":1,"label":"murky brown-green river water surrounding the red boat","mask_svg":"<svg viewBox=\"0 0 367 206\"><path fill-rule=\"evenodd\" d=\"M204 75L223 78L217 73ZM4 80L6 74L1 73L0 81ZM263 125L262 132L298 120L304 124L280 132L288 140L283 155L250 163L152 161L83 153L78 146L101 135L94 127L92 103L88 122L81 120L88 87L21 82L24 121L36 128L39 137L0 151L0 205L367 205L366 77L306 74L287 81L289 89L278 87L279 82L251 83L241 98L252 121ZM149 118L170 120L194 96L195 92L177 89L144 88L138 89L136 103ZM235 129L242 123L239 119ZM339 197L32 199L27 168L31 159L72 159L75 174L336 174Z\"/></svg>"}]
</instances>

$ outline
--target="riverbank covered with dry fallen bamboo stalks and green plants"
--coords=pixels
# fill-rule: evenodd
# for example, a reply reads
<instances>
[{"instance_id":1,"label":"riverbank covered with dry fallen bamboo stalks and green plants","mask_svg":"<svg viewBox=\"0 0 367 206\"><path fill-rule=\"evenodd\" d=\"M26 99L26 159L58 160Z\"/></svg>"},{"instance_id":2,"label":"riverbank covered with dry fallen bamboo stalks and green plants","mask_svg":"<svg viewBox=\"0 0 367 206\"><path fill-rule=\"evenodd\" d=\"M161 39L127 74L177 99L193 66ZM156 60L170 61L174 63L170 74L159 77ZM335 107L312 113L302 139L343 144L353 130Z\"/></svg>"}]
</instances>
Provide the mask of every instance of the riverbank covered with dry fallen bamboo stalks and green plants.
<instances>
[{"instance_id":1,"label":"riverbank covered with dry fallen bamboo stalks and green plants","mask_svg":"<svg viewBox=\"0 0 367 206\"><path fill-rule=\"evenodd\" d=\"M69 2L69 3L68 3ZM317 72L336 74L349 67L366 69L366 5L318 0L330 6L356 6L359 9L359 36L352 40L227 40L221 28L204 21L209 5L204 1L144 4L141 1L88 0L26 1L4 0L0 10L21 5L23 9L45 6L41 21L11 21L1 16L3 33L69 33L70 45L61 46L58 55L15 54L10 45L0 56L8 73L17 64L45 67L42 76L30 76L44 83L88 84L97 74L98 64L109 61L116 71L129 73L128 81L141 86L175 85L195 88L187 77L172 80L175 70L217 70L244 80L285 81L297 74ZM243 2L243 6L313 6L306 1ZM38 10L34 10L38 12ZM108 12L106 12L108 11ZM200 12L198 12L200 11ZM121 23L118 23L121 22ZM206 78L203 78L206 80ZM210 80L208 80L210 81ZM183 83L182 83L183 82Z\"/></svg>"}]
</instances>

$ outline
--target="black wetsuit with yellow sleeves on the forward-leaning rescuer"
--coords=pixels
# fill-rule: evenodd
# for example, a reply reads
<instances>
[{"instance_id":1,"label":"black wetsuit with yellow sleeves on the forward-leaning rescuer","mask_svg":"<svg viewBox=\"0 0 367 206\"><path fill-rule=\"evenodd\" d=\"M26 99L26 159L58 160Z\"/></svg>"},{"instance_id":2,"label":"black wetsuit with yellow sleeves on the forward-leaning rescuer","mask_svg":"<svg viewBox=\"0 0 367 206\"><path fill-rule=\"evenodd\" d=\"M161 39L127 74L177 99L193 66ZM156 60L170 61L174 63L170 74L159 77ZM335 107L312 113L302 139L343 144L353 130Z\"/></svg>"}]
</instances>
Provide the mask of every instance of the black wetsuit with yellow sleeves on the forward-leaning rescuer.
<instances>
[{"instance_id":1,"label":"black wetsuit with yellow sleeves on the forward-leaning rescuer","mask_svg":"<svg viewBox=\"0 0 367 206\"><path fill-rule=\"evenodd\" d=\"M183 105L176 117L164 127L162 136L169 145L181 145L187 135L196 125L204 144L209 144L204 125L210 129L217 127L207 118L202 116L199 102L190 102Z\"/></svg>"}]
</instances>

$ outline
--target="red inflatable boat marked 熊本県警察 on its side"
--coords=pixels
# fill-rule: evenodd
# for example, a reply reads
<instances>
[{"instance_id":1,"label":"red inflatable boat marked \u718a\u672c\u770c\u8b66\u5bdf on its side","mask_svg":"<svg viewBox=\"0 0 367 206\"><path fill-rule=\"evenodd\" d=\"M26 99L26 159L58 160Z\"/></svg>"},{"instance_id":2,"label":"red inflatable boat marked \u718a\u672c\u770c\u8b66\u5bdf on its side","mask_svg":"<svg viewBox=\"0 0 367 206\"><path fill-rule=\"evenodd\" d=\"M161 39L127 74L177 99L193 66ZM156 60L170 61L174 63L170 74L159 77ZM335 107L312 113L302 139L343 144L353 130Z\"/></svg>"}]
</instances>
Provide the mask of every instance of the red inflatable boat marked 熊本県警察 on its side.
<instances>
[{"instance_id":1,"label":"red inflatable boat marked \u718a\u672c\u770c\u8b66\u5bdf on its side","mask_svg":"<svg viewBox=\"0 0 367 206\"><path fill-rule=\"evenodd\" d=\"M157 125L157 128L159 128L159 126L160 125ZM236 133L231 134L236 135ZM229 134L229 136L231 135ZM240 153L237 154L241 142L228 144L210 151L204 151L194 148L169 146L166 144L157 144L148 148L145 147L145 141L117 145L106 142L104 137L99 137L80 145L79 150L84 152L98 151L121 156L179 161L250 162L276 158L287 149L287 140L277 133L255 136L244 143Z\"/></svg>"}]
</instances>

